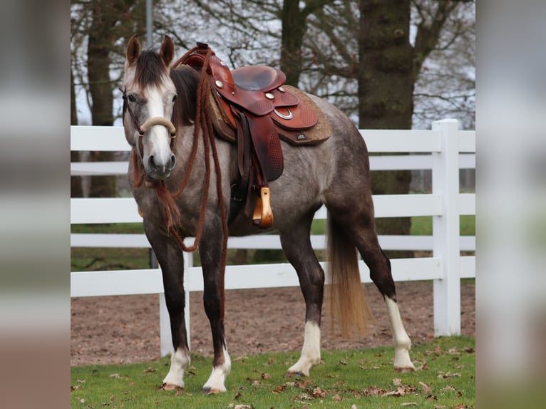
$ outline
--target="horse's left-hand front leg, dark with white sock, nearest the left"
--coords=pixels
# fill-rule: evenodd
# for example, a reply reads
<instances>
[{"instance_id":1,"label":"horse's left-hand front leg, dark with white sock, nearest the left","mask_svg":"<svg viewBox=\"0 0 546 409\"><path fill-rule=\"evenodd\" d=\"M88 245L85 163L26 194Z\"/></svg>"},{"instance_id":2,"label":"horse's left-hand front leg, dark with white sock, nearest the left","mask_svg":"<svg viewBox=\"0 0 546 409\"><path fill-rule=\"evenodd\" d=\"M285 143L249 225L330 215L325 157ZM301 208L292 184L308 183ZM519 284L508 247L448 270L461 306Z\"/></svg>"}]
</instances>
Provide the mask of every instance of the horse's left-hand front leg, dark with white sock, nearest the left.
<instances>
[{"instance_id":1,"label":"horse's left-hand front leg, dark with white sock, nearest the left","mask_svg":"<svg viewBox=\"0 0 546 409\"><path fill-rule=\"evenodd\" d=\"M169 237L153 225L144 222L144 229L163 274L165 304L169 312L172 347L170 369L163 379L163 388L184 388L184 373L190 366L190 348L187 345L186 321L184 316L184 259L183 252Z\"/></svg>"}]
</instances>

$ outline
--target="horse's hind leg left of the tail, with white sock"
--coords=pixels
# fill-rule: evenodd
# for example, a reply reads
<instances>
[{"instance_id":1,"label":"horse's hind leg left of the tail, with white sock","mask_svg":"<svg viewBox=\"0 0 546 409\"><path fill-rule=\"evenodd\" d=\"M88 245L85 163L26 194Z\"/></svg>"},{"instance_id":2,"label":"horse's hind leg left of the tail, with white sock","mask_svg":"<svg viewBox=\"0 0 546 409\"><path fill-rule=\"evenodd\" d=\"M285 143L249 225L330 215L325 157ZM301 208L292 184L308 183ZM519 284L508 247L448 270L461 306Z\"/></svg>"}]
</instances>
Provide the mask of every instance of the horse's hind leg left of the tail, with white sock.
<instances>
[{"instance_id":1,"label":"horse's hind leg left of the tail, with white sock","mask_svg":"<svg viewBox=\"0 0 546 409\"><path fill-rule=\"evenodd\" d=\"M305 330L302 355L288 369L287 376L309 376L312 366L321 359L321 311L324 294L324 271L316 259L309 237L313 215L308 214L302 222L289 231L280 232L282 249L288 261L296 269L305 300Z\"/></svg>"}]
</instances>

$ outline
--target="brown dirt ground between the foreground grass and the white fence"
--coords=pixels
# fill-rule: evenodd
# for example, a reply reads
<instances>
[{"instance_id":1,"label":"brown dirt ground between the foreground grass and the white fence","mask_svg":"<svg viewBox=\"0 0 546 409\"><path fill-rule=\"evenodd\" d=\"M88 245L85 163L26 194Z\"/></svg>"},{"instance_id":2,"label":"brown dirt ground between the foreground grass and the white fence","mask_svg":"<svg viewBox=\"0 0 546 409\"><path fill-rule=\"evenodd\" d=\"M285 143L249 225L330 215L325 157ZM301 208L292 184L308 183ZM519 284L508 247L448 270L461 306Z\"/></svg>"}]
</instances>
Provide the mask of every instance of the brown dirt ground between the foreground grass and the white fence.
<instances>
[{"instance_id":1,"label":"brown dirt ground between the foreground grass and the white fence","mask_svg":"<svg viewBox=\"0 0 546 409\"><path fill-rule=\"evenodd\" d=\"M322 348L392 345L381 294L364 284L376 318L373 333L359 341L332 337L323 311ZM397 283L398 305L413 343L433 338L431 282ZM158 295L101 296L71 301L71 365L135 363L160 356ZM202 293L190 295L191 349L212 356L212 337ZM250 353L299 351L303 345L304 301L299 287L226 291L225 331L232 358ZM475 335L475 286L461 286L461 332Z\"/></svg>"}]
</instances>

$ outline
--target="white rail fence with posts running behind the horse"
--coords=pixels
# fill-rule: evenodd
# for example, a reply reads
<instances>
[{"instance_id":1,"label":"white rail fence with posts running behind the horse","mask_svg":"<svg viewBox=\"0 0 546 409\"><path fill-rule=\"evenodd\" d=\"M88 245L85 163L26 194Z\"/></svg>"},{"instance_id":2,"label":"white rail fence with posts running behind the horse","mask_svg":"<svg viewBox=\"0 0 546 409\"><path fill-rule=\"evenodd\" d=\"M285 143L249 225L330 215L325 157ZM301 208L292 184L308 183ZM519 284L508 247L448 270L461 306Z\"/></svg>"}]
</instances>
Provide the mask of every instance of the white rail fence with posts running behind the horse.
<instances>
[{"instance_id":1,"label":"white rail fence with posts running behind the horse","mask_svg":"<svg viewBox=\"0 0 546 409\"><path fill-rule=\"evenodd\" d=\"M460 279L475 277L475 257L461 251L475 250L475 237L460 237L459 216L475 214L475 194L459 192L459 169L475 168L475 131L458 130L456 120L433 123L432 130L361 130L370 152L411 152L413 155L372 156L371 170L431 169L430 194L374 195L376 217L432 216L433 235L380 236L383 249L432 250L433 257L391 260L395 281L433 280L434 333L460 334ZM71 150L128 151L123 128L71 127ZM128 162L73 162L71 175L122 175ZM325 219L326 209L315 219ZM71 224L142 222L137 205L128 198L73 198ZM313 236L315 249L324 249L324 236ZM71 247L150 247L143 234L71 234ZM234 237L231 249L280 249L277 235ZM186 254L186 296L202 291L200 267ZM371 282L369 269L360 262L361 281ZM226 289L299 286L290 264L227 266ZM161 353L172 350L170 323L159 269L71 272L71 296L160 294ZM189 300L187 300L189 301ZM186 303L187 328L189 302ZM189 331L188 331L189 335Z\"/></svg>"}]
</instances>

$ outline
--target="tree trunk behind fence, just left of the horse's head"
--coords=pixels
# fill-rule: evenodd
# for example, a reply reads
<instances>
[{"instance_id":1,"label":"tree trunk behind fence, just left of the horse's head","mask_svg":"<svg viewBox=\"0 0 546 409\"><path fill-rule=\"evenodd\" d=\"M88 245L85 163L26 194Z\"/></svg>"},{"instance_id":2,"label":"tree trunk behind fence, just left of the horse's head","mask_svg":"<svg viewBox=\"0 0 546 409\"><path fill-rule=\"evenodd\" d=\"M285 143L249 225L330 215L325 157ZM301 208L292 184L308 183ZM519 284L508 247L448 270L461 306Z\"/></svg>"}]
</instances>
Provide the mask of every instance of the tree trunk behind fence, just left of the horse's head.
<instances>
[{"instance_id":1,"label":"tree trunk behind fence, just left of the horse's head","mask_svg":"<svg viewBox=\"0 0 546 409\"><path fill-rule=\"evenodd\" d=\"M89 92L93 105L91 118L93 125L113 125L113 84L110 81L110 49L113 46L113 6L109 1L91 1L92 24L88 38L88 78ZM114 160L114 152L91 152L91 160L97 162ZM114 197L114 176L93 176L89 190L91 197Z\"/></svg>"}]
</instances>

